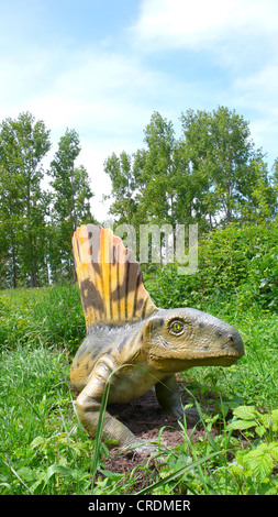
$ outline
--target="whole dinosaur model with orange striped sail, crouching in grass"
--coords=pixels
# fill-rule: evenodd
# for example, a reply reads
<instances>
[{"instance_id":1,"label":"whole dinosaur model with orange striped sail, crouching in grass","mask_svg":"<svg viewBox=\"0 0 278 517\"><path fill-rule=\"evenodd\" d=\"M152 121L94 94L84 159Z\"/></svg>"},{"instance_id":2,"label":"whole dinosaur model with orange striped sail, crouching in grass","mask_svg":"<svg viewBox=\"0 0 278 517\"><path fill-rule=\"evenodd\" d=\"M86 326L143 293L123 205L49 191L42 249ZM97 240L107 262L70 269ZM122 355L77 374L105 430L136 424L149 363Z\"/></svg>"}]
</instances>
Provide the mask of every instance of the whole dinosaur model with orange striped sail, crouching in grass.
<instances>
[{"instance_id":1,"label":"whole dinosaur model with orange striped sail, crouching in grass","mask_svg":"<svg viewBox=\"0 0 278 517\"><path fill-rule=\"evenodd\" d=\"M144 288L140 264L111 230L81 226L73 248L87 336L70 381L80 392L77 414L90 436L96 436L108 381L109 404L140 397L155 385L162 408L179 418L175 373L230 366L244 354L241 336L224 321L192 308L157 308ZM148 450L108 411L103 435L122 449Z\"/></svg>"}]
</instances>

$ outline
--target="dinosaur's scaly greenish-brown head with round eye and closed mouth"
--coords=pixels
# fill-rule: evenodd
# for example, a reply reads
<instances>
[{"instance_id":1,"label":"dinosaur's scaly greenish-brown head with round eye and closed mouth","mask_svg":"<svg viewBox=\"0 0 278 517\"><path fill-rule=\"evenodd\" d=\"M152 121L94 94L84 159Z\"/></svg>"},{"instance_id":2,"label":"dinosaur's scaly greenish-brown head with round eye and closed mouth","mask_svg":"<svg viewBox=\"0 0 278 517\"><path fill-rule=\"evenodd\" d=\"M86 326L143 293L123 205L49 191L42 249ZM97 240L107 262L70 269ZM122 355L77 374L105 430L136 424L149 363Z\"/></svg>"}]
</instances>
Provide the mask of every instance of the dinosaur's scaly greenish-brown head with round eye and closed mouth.
<instances>
[{"instance_id":1,"label":"dinosaur's scaly greenish-brown head with round eye and closed mouth","mask_svg":"<svg viewBox=\"0 0 278 517\"><path fill-rule=\"evenodd\" d=\"M191 366L230 366L244 355L231 324L191 308L159 309L145 323L143 350L148 364L167 373Z\"/></svg>"}]
</instances>

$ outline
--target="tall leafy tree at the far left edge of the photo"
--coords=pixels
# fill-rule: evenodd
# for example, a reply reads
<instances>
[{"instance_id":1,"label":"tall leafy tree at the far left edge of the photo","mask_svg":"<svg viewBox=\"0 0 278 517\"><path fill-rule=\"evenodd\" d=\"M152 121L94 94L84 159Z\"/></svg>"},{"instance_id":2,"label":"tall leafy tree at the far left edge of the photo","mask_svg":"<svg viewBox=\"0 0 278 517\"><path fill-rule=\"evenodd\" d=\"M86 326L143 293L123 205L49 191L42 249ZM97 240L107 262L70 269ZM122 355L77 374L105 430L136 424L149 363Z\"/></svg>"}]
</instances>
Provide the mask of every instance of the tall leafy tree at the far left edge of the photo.
<instances>
[{"instance_id":1,"label":"tall leafy tree at the far left edge of the photo","mask_svg":"<svg viewBox=\"0 0 278 517\"><path fill-rule=\"evenodd\" d=\"M44 255L45 211L41 162L49 151L49 131L31 113L7 119L0 127L0 210L7 237L7 258L12 263L12 285L19 273L32 287ZM40 217L38 217L40 212Z\"/></svg>"}]
</instances>

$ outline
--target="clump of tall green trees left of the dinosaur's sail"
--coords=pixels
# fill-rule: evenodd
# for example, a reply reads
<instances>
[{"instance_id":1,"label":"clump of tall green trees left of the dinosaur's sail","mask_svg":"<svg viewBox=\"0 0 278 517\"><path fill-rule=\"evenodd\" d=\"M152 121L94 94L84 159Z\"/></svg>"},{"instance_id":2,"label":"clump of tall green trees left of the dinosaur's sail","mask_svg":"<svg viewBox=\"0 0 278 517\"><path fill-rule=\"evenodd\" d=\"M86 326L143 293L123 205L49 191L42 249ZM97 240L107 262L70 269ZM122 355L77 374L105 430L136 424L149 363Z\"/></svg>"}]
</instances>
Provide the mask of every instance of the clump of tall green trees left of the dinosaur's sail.
<instances>
[{"instance_id":1,"label":"clump of tall green trees left of the dinosaur's sail","mask_svg":"<svg viewBox=\"0 0 278 517\"><path fill-rule=\"evenodd\" d=\"M52 162L52 193L42 166L49 131L31 113L0 124L0 288L73 279L71 235L92 222L88 173L75 167L77 133L67 130ZM74 276L75 277L75 276Z\"/></svg>"}]
</instances>

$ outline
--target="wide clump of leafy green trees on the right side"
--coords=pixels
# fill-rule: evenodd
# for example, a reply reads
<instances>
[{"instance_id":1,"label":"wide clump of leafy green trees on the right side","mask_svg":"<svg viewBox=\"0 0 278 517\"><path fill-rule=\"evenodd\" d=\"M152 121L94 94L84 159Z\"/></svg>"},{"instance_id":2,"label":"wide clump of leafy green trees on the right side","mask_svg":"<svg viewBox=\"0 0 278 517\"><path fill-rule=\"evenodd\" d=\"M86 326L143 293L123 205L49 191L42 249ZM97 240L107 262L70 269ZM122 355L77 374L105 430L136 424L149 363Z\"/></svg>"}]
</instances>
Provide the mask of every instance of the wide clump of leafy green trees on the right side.
<instances>
[{"instance_id":1,"label":"wide clump of leafy green trees on the right side","mask_svg":"<svg viewBox=\"0 0 278 517\"><path fill-rule=\"evenodd\" d=\"M255 150L248 122L226 107L188 110L180 121L177 140L173 123L154 112L146 148L105 161L118 223L199 223L203 233L232 221L271 221L277 173Z\"/></svg>"}]
</instances>

